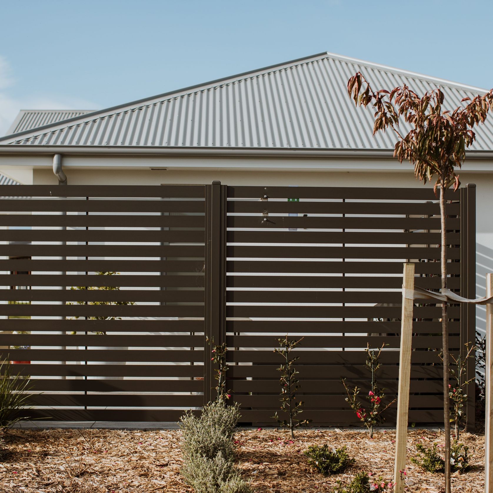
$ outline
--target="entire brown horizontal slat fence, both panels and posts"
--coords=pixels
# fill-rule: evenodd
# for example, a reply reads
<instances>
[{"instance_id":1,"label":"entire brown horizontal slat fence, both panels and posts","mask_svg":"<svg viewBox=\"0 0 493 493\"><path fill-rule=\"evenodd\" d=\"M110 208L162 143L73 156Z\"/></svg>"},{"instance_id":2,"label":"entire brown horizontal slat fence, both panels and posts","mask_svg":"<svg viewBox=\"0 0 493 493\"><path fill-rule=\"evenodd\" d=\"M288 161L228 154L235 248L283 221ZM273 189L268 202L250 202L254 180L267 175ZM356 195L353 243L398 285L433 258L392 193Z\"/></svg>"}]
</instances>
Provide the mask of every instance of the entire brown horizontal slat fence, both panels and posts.
<instances>
[{"instance_id":1,"label":"entire brown horizontal slat fence, both panels and posts","mask_svg":"<svg viewBox=\"0 0 493 493\"><path fill-rule=\"evenodd\" d=\"M467 297L474 191L447 192L449 287ZM209 339L227 343L242 421L274 423L273 348L288 334L304 337L303 417L356 424L340 379L368 391L367 344L386 345L381 385L397 390L403 262L416 285L440 288L427 188L3 185L0 196L0 358L31 379L29 416L176 421L214 397ZM411 422L442 419L440 316L415 305ZM474 311L449 317L458 352Z\"/></svg>"}]
</instances>

